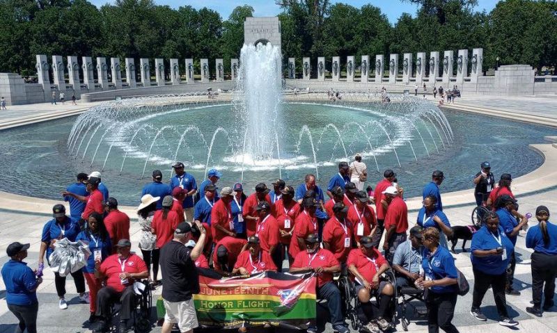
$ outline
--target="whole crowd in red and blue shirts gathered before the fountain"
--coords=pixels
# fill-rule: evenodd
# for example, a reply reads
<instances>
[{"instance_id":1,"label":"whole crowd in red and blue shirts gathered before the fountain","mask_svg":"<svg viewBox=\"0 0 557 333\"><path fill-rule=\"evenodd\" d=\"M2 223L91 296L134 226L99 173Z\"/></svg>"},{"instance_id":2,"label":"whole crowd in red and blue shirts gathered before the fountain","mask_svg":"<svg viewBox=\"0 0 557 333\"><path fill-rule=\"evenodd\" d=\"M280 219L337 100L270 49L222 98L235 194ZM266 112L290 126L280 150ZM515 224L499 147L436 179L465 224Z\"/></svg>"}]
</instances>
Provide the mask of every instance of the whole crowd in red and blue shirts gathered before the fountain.
<instances>
[{"instance_id":1,"label":"whole crowd in red and blue shirts gathered before the fountain","mask_svg":"<svg viewBox=\"0 0 557 333\"><path fill-rule=\"evenodd\" d=\"M513 287L515 245L517 235L528 226L528 217L518 211L510 174L501 174L496 186L491 165L484 162L480 167L471 181L476 184L476 203L487 206L489 213L471 242L475 282L471 314L487 319L480 306L491 287L499 324L515 326L518 323L510 318L505 297L520 294ZM44 259L49 261L56 242L63 238L82 241L91 251L86 265L71 275L79 300L90 304L89 321L97 322L97 332L109 329L110 306L116 300L122 303L120 332L127 332L134 282L142 279L148 279L152 289L162 285L166 310L162 332L170 332L173 325L180 332L191 332L198 326L192 301L199 290L195 267L212 268L224 276L311 270L317 277L317 298L327 300L331 325L340 333L349 329L334 275L350 275L354 296L361 304L359 316L370 332L392 327L389 304L395 286L414 286L426 291L429 332L458 332L451 322L459 273L447 245L453 229L441 200L445 179L441 170L434 170L425 184L423 207L409 228L404 190L395 172L384 170L375 190L368 186L364 191L367 170L359 154L350 165L338 164L338 173L327 188L317 186L315 176L307 174L298 186L276 179L272 188L259 183L249 195L241 183L219 188L223 174L218 170L209 170L207 179L198 185L183 163L172 168L168 184L160 170L153 171L152 182L138 198L136 246L141 257L131 251L130 217L118 209L118 200L109 195L100 172L77 174L76 182L61 192L70 212L62 204L53 207L53 218L42 229L36 270L23 261L29 244L8 246L10 261L3 266L2 276L8 309L19 320L16 332L36 332L36 289L42 282ZM557 226L549 222L545 206L536 209L535 217L539 223L526 235L526 246L534 250L533 306L526 310L542 316L542 309L554 305ZM395 283L382 279L391 268ZM65 280L54 273L60 309L68 308ZM377 305L372 306L374 298ZM308 332L316 330L308 328Z\"/></svg>"}]
</instances>

